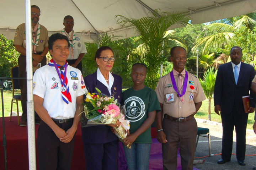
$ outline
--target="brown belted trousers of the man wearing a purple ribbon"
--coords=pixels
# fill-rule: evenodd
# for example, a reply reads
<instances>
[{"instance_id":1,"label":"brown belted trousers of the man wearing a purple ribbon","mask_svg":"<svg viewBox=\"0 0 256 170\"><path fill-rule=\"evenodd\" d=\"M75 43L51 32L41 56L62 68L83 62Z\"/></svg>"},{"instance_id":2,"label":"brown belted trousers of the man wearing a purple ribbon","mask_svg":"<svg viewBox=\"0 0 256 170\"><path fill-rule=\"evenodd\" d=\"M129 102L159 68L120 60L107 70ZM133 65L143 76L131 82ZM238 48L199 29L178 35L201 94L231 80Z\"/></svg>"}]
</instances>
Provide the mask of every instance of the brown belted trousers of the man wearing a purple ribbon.
<instances>
[{"instance_id":1,"label":"brown belted trousers of the man wearing a purple ribbon","mask_svg":"<svg viewBox=\"0 0 256 170\"><path fill-rule=\"evenodd\" d=\"M175 122L164 118L162 127L168 141L162 143L164 170L177 169L179 146L182 170L192 170L197 136L197 122L194 117L187 122Z\"/></svg>"}]
</instances>

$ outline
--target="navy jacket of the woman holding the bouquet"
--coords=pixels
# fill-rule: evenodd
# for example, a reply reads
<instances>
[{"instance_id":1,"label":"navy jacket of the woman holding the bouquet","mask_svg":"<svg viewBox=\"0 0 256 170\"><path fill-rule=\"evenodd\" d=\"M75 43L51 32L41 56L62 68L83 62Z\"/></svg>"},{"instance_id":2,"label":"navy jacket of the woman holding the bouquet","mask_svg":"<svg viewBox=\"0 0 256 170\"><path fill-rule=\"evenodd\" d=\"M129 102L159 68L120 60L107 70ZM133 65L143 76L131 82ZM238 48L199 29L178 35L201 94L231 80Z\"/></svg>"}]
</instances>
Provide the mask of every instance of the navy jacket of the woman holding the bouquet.
<instances>
[{"instance_id":1,"label":"navy jacket of the woman holding the bouquet","mask_svg":"<svg viewBox=\"0 0 256 170\"><path fill-rule=\"evenodd\" d=\"M118 75L112 74L114 77L114 83L111 87L111 93L114 98L120 103L122 99L122 78ZM89 76L84 77L85 86L90 93L98 93L95 89L97 87L100 89L101 93L110 96L107 87L97 80L97 71ZM108 143L118 138L114 135L110 126L107 125L97 125L91 127L82 128L82 140L84 143Z\"/></svg>"}]
</instances>

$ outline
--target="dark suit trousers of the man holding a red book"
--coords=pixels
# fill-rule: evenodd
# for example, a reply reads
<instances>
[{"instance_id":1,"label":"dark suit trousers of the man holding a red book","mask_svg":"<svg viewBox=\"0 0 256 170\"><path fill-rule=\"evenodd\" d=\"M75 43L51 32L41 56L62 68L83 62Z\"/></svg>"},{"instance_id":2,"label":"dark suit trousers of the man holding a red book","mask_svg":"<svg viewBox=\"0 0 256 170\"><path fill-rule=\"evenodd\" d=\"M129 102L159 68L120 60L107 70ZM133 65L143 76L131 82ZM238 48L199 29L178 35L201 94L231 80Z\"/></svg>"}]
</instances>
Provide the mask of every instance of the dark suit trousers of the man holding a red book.
<instances>
[{"instance_id":1,"label":"dark suit trousers of the man holding a red book","mask_svg":"<svg viewBox=\"0 0 256 170\"><path fill-rule=\"evenodd\" d=\"M245 159L245 136L248 114L238 114L235 107L229 114L221 113L222 118L222 159L225 161L230 161L232 149L233 149L233 131L235 126L236 132L236 159Z\"/></svg>"}]
</instances>

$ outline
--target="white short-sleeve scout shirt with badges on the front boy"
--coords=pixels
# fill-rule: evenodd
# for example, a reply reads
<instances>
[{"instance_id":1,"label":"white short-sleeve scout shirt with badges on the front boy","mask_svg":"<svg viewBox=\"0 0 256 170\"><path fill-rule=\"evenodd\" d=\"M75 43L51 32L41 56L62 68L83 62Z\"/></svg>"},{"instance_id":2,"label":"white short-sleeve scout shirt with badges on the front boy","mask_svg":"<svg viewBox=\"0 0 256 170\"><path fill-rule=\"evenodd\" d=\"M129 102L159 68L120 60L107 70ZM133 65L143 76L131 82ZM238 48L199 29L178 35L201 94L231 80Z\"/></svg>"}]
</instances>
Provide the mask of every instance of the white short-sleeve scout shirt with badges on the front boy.
<instances>
[{"instance_id":1,"label":"white short-sleeve scout shirt with badges on the front boy","mask_svg":"<svg viewBox=\"0 0 256 170\"><path fill-rule=\"evenodd\" d=\"M60 69L58 69L60 71ZM85 94L86 87L81 71L72 66L67 67L69 92L72 102L62 100L61 80L55 67L46 65L36 70L33 76L33 94L43 98L43 106L50 117L55 119L73 118L76 110L76 97Z\"/></svg>"}]
</instances>

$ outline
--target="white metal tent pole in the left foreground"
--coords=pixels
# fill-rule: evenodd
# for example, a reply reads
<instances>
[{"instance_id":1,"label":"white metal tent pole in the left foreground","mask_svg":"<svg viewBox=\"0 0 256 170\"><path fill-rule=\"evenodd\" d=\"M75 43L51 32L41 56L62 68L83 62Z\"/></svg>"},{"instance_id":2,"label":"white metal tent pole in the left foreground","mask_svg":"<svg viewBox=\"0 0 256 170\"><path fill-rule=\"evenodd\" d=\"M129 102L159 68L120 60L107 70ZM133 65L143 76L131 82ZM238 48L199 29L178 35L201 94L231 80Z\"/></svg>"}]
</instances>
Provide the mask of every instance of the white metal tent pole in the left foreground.
<instances>
[{"instance_id":1,"label":"white metal tent pole in the left foreground","mask_svg":"<svg viewBox=\"0 0 256 170\"><path fill-rule=\"evenodd\" d=\"M36 170L36 138L34 128L33 74L32 74L32 28L31 1L25 0L26 9L26 64L27 64L27 129L29 169Z\"/></svg>"}]
</instances>

